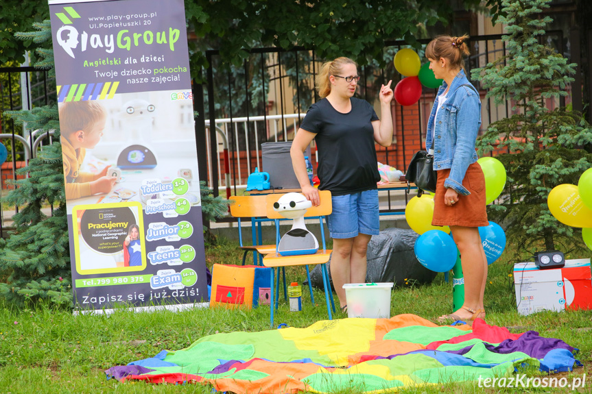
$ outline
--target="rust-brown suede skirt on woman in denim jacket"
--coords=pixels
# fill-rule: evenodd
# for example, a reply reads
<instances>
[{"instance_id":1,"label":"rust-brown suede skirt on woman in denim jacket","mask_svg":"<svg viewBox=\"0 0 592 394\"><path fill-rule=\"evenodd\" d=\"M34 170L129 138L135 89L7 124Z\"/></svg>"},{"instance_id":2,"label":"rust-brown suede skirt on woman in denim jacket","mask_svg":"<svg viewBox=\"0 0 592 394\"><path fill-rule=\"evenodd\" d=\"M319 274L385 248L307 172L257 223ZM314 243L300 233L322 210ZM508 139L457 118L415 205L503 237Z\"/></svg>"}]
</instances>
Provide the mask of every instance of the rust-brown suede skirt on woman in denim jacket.
<instances>
[{"instance_id":1,"label":"rust-brown suede skirt on woman in denim jacket","mask_svg":"<svg viewBox=\"0 0 592 394\"><path fill-rule=\"evenodd\" d=\"M461 225L464 227L483 227L489 225L485 209L485 177L479 163L469 165L462 180L470 195L458 195L458 201L453 206L444 203L446 188L444 181L450 174L450 169L436 171L438 184L434 196L434 219L432 225Z\"/></svg>"}]
</instances>

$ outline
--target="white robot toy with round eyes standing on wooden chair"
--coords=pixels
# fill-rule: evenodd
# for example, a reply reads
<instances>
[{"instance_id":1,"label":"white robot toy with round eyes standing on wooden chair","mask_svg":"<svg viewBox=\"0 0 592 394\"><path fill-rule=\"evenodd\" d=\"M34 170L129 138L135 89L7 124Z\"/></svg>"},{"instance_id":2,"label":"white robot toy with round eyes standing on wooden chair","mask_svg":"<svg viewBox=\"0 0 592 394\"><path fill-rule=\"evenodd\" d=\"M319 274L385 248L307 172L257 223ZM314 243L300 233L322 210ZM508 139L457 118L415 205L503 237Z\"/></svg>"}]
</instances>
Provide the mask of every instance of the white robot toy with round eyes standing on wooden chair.
<instances>
[{"instance_id":1,"label":"white robot toy with round eyes standing on wooden chair","mask_svg":"<svg viewBox=\"0 0 592 394\"><path fill-rule=\"evenodd\" d=\"M294 220L292 229L285 233L279 242L278 253L281 256L316 254L318 251L318 241L306 229L304 221L304 215L311 206L311 201L300 193L287 193L274 203L274 211L286 219Z\"/></svg>"}]
</instances>

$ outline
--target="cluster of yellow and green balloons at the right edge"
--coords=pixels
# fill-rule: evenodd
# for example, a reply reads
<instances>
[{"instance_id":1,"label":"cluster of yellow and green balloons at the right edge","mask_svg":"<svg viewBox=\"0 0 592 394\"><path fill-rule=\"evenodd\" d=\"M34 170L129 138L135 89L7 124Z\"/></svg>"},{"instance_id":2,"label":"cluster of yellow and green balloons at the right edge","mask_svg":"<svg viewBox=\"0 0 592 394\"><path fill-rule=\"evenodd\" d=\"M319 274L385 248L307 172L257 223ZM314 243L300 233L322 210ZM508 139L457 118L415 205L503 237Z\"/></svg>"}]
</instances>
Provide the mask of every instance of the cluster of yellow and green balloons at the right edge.
<instances>
[{"instance_id":1,"label":"cluster of yellow and green balloons at the right edge","mask_svg":"<svg viewBox=\"0 0 592 394\"><path fill-rule=\"evenodd\" d=\"M580 175L578 186L555 186L547 197L547 206L561 223L582 227L584 243L592 250L592 168Z\"/></svg>"}]
</instances>

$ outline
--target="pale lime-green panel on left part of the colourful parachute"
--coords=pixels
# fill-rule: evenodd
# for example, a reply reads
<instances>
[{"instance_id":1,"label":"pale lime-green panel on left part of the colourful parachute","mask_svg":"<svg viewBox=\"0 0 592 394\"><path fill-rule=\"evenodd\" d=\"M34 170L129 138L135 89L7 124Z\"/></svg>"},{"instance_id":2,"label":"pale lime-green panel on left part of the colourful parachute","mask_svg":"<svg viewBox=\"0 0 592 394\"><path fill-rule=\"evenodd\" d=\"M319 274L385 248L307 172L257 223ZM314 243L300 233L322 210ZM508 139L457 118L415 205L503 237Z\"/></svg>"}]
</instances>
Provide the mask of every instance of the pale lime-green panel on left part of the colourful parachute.
<instances>
[{"instance_id":1,"label":"pale lime-green panel on left part of the colourful parachute","mask_svg":"<svg viewBox=\"0 0 592 394\"><path fill-rule=\"evenodd\" d=\"M261 332L228 332L204 336L198 339L185 351L193 349L204 342L225 343L226 345L252 345L254 353L250 358L263 358L272 361L292 361L310 358L313 362L322 365L333 365L328 356L321 356L318 350L298 349L294 341L287 341L281 336L280 330L268 330ZM196 353L198 354L198 353ZM218 357L222 358L222 357ZM238 360L239 358L229 358ZM168 356L165 359L168 361Z\"/></svg>"}]
</instances>

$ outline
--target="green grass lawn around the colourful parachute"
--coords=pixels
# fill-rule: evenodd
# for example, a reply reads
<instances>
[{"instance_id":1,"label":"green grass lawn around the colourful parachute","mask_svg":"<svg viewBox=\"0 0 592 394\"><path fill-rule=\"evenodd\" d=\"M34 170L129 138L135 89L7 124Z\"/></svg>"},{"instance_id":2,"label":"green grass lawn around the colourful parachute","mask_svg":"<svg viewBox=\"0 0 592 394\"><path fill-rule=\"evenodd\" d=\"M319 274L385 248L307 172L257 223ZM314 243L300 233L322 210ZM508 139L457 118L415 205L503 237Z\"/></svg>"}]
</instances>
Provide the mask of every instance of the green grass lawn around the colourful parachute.
<instances>
[{"instance_id":1,"label":"green grass lawn around the colourful parachute","mask_svg":"<svg viewBox=\"0 0 592 394\"><path fill-rule=\"evenodd\" d=\"M582 256L583 257L583 256ZM585 256L587 257L587 256ZM237 243L220 240L206 249L206 260L240 264ZM571 378L586 374L580 392L592 392L592 312L540 312L518 315L514 299L512 264L504 256L490 265L486 288L487 322L510 328L512 332L536 330L542 336L563 339L580 349L584 368L562 373ZM303 282L304 269L289 269L288 281ZM281 301L275 323L306 327L327 319L324 294L316 291L316 306L303 294L303 310L289 312ZM434 321L451 312L452 285L443 274L429 285L395 287L391 315L413 313ZM337 317L345 317L338 312ZM118 310L110 316L73 316L68 310L45 306L30 309L0 304L0 393L211 393L211 386L186 384L121 383L106 380L104 370L115 365L152 357L162 349L180 349L198 338L216 332L269 330L269 308L225 310L209 308L183 312L133 313ZM528 375L541 375L528 371ZM517 393L562 392L561 389L483 389L476 383L448 384L399 391L401 393ZM563 389L563 392L571 391ZM349 391L348 391L349 392ZM355 393L355 391L352 391Z\"/></svg>"}]
</instances>

